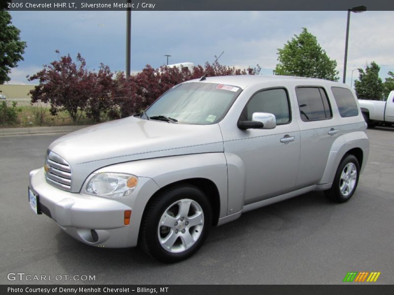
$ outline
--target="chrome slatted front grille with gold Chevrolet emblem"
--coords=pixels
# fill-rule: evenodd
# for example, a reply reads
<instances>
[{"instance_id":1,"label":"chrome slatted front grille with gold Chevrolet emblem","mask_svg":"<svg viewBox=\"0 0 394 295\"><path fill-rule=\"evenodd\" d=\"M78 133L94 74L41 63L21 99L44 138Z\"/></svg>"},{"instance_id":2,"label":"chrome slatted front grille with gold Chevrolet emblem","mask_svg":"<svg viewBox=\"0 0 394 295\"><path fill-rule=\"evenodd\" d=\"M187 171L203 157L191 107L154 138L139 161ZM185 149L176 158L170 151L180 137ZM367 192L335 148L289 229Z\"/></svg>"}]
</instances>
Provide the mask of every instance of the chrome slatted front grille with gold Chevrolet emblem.
<instances>
[{"instance_id":1,"label":"chrome slatted front grille with gold Chevrolet emblem","mask_svg":"<svg viewBox=\"0 0 394 295\"><path fill-rule=\"evenodd\" d=\"M45 166L46 182L65 191L71 190L71 167L65 159L48 149Z\"/></svg>"}]
</instances>

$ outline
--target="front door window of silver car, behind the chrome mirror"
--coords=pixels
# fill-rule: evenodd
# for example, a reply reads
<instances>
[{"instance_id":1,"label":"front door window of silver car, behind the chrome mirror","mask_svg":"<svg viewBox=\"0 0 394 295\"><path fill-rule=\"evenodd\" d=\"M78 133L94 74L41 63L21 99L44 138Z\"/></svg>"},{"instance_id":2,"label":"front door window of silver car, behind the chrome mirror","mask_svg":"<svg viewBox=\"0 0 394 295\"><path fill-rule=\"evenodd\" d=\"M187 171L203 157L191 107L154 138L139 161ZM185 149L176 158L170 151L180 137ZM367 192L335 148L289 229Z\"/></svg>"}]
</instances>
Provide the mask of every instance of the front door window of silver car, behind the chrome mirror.
<instances>
[{"instance_id":1,"label":"front door window of silver car, behind the chrome mirror","mask_svg":"<svg viewBox=\"0 0 394 295\"><path fill-rule=\"evenodd\" d=\"M248 120L252 120L253 113L263 112L274 114L278 125L290 121L289 100L285 89L268 89L256 93L246 109Z\"/></svg>"}]
</instances>

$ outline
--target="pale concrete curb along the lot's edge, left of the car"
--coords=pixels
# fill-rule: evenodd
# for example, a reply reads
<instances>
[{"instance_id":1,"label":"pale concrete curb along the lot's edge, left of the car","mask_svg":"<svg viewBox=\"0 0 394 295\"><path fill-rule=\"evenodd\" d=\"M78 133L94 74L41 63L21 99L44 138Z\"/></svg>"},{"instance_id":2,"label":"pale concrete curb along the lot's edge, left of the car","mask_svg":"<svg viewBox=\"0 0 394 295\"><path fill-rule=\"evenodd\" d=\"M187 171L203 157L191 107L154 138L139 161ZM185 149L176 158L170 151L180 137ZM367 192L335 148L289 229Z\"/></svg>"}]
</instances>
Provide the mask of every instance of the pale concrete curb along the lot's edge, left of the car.
<instances>
[{"instance_id":1,"label":"pale concrete curb along the lot's edge, left of the car","mask_svg":"<svg viewBox=\"0 0 394 295\"><path fill-rule=\"evenodd\" d=\"M28 134L69 133L90 125L78 126L53 126L53 127L25 127L25 128L0 128L0 137Z\"/></svg>"}]
</instances>

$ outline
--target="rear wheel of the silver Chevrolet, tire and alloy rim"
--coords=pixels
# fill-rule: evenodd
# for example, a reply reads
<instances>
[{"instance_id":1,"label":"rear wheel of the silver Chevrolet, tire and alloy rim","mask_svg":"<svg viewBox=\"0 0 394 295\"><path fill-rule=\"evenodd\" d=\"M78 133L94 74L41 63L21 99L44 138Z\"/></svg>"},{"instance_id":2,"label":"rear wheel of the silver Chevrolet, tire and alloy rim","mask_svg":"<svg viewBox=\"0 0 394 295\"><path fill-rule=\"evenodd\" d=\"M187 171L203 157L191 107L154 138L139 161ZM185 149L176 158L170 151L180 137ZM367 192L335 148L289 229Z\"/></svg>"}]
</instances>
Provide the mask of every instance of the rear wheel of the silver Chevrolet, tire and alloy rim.
<instances>
[{"instance_id":1,"label":"rear wheel of the silver Chevrolet, tire and alloy rim","mask_svg":"<svg viewBox=\"0 0 394 295\"><path fill-rule=\"evenodd\" d=\"M335 173L331 188L325 191L326 197L335 203L349 201L356 191L359 176L359 161L354 155L345 155Z\"/></svg>"}]
</instances>

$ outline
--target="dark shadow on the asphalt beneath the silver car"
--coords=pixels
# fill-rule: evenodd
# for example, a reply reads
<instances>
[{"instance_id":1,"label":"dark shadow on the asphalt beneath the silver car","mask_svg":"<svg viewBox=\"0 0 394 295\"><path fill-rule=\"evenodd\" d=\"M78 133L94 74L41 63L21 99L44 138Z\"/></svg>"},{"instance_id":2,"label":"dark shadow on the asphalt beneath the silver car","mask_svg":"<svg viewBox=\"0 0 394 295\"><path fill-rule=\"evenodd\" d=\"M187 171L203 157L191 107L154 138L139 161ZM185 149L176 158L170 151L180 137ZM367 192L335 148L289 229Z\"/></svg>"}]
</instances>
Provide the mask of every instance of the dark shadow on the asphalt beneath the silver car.
<instances>
[{"instance_id":1,"label":"dark shadow on the asphalt beneath the silver car","mask_svg":"<svg viewBox=\"0 0 394 295\"><path fill-rule=\"evenodd\" d=\"M166 271L180 271L185 266L206 267L226 260L230 253L223 249L243 249L252 244L259 247L286 247L321 230L337 204L330 203L322 192L310 192L280 203L242 214L228 224L213 227L202 248L191 258L174 265L162 264L138 247L126 249L97 248L81 243L63 231L56 234L57 261L70 274L96 274L89 283L131 283L146 279L152 269L165 276ZM313 220L313 222L311 222ZM72 259L70 259L72 257ZM135 270L138 270L135 272ZM108 274L109 272L109 274ZM181 274L181 272L180 272ZM174 282L168 282L174 283ZM176 283L176 282L175 282ZM183 281L183 283L188 283ZM193 283L193 282L190 282Z\"/></svg>"}]
</instances>

